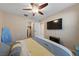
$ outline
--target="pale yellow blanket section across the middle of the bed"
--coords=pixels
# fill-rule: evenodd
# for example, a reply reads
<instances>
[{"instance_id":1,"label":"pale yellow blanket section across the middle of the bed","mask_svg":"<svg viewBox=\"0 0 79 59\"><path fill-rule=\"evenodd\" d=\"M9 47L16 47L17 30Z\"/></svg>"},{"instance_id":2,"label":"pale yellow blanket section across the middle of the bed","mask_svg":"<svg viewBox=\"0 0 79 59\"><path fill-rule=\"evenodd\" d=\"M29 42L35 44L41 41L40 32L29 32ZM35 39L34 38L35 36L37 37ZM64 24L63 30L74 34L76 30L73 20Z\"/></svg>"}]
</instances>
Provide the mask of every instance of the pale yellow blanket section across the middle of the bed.
<instances>
[{"instance_id":1,"label":"pale yellow blanket section across the middle of the bed","mask_svg":"<svg viewBox=\"0 0 79 59\"><path fill-rule=\"evenodd\" d=\"M31 56L54 56L54 54L52 54L32 38L27 39L27 45Z\"/></svg>"}]
</instances>

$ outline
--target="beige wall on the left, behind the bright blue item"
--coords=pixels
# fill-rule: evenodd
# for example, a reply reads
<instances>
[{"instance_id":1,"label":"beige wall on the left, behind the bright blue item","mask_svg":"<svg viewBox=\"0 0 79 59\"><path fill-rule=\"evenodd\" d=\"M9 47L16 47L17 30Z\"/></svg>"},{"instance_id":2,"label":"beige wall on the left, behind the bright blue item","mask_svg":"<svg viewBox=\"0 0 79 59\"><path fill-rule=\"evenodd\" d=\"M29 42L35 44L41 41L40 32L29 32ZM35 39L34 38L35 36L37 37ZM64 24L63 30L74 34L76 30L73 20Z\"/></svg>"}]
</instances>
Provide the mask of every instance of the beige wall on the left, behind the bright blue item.
<instances>
[{"instance_id":1,"label":"beige wall on the left, behind the bright blue item","mask_svg":"<svg viewBox=\"0 0 79 59\"><path fill-rule=\"evenodd\" d=\"M12 41L27 38L27 26L29 25L28 24L29 21L30 19L28 18L1 11L0 12L0 34L1 34L2 27L7 26L9 27L12 34Z\"/></svg>"}]
</instances>

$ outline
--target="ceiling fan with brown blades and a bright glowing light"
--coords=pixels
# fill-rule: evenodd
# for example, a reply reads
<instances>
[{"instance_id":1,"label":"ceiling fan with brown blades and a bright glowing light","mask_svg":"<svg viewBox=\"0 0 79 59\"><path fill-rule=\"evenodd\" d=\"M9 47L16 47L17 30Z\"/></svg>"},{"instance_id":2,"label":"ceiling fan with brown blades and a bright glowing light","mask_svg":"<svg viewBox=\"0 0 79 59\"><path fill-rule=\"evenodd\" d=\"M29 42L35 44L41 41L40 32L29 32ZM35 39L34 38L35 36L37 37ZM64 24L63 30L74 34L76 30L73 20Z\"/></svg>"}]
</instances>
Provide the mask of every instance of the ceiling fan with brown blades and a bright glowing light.
<instances>
[{"instance_id":1,"label":"ceiling fan with brown blades and a bright glowing light","mask_svg":"<svg viewBox=\"0 0 79 59\"><path fill-rule=\"evenodd\" d=\"M44 13L41 11L43 8L45 8L48 3L44 3L42 5L36 4L36 3L30 3L31 8L23 9L23 10L31 10L33 12L33 16L35 16L36 13L39 13L40 15L44 15ZM27 14L24 14L24 16L28 16Z\"/></svg>"}]
</instances>

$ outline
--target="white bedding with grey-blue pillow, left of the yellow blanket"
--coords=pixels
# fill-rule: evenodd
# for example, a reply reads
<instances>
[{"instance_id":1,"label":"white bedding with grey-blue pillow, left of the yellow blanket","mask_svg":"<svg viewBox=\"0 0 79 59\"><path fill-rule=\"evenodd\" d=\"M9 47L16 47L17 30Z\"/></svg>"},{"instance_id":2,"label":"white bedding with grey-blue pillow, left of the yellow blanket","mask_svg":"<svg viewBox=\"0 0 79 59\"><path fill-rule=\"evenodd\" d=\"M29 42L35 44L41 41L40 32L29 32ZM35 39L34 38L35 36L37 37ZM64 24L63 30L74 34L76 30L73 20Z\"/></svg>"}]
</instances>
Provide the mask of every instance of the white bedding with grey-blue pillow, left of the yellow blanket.
<instances>
[{"instance_id":1,"label":"white bedding with grey-blue pillow, left of the yellow blanket","mask_svg":"<svg viewBox=\"0 0 79 59\"><path fill-rule=\"evenodd\" d=\"M30 53L27 49L26 39L18 40L12 44L10 56L29 56Z\"/></svg>"}]
</instances>

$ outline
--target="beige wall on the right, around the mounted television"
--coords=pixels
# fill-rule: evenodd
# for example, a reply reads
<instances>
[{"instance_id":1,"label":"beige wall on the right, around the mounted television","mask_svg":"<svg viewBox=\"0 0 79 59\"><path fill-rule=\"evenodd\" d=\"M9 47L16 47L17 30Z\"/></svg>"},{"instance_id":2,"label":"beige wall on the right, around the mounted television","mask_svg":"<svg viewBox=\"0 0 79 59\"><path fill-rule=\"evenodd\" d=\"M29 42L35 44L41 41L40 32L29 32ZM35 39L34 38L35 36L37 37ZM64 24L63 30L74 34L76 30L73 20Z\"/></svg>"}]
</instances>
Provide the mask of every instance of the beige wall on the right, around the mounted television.
<instances>
[{"instance_id":1,"label":"beige wall on the right, around the mounted television","mask_svg":"<svg viewBox=\"0 0 79 59\"><path fill-rule=\"evenodd\" d=\"M76 44L78 39L78 25L79 25L79 4L72 6L68 9L65 9L53 16L47 18L47 20L43 21L44 23L44 35L45 38L49 38L49 36L59 37L64 45L70 49L74 49L74 45ZM62 18L62 30L47 30L47 22Z\"/></svg>"}]
</instances>

